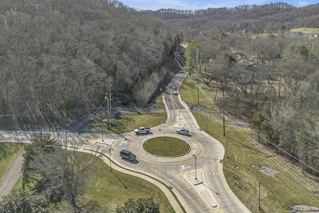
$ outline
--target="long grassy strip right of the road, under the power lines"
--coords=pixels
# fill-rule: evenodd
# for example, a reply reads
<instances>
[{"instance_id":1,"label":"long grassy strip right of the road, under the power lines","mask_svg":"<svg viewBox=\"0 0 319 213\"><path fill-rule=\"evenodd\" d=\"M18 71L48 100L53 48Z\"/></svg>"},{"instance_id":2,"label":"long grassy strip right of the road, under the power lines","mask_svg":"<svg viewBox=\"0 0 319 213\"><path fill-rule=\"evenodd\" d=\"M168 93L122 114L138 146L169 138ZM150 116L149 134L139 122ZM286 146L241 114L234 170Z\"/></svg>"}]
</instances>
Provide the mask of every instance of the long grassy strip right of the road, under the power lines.
<instances>
[{"instance_id":1,"label":"long grassy strip right of the road, under the power lines","mask_svg":"<svg viewBox=\"0 0 319 213\"><path fill-rule=\"evenodd\" d=\"M190 95L197 94L197 84L194 87L194 82L186 80L182 84L182 89L182 100L198 105L197 95ZM210 108L210 97L214 96L214 91L200 88L199 105ZM204 100L205 97L207 97L206 100ZM213 110L208 109L206 112L211 113ZM206 129L206 115L193 111L192 113L198 125ZM216 113L214 115L216 116ZM249 139L249 137L254 137L252 132L242 131L226 125L224 136L223 124L219 124L209 117L207 130L207 134L216 138L224 146L223 172L225 178L230 189L250 211L253 213L260 212L257 210L259 205L259 183L261 183L260 207L263 212L285 213L293 205L318 206L318 196L308 189L306 184L301 183L299 177L308 181L311 185L316 184L311 183L306 175L290 167L284 159L280 159L280 156L276 156L275 153L267 150L267 148L257 147ZM228 159L226 159L226 153ZM265 166L279 173L275 177L266 176L254 169L253 165L258 167ZM235 181L241 181L243 188L237 187ZM318 185L316 187L318 188Z\"/></svg>"}]
</instances>

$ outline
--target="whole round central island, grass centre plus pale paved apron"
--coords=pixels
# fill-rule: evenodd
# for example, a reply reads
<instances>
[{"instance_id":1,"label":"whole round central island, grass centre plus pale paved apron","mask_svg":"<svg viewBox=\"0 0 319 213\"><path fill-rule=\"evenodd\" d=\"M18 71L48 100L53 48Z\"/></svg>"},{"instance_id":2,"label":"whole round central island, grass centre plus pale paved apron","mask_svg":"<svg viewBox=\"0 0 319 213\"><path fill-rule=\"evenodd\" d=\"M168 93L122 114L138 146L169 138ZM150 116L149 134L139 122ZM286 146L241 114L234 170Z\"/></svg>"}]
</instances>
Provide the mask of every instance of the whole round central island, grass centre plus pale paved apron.
<instances>
[{"instance_id":1,"label":"whole round central island, grass centre plus pale paved apron","mask_svg":"<svg viewBox=\"0 0 319 213\"><path fill-rule=\"evenodd\" d=\"M155 144L156 142L158 146ZM161 152L159 149L155 151L153 149L155 146L162 148L163 151ZM165 151L165 146L175 150L173 152ZM135 140L130 148L140 159L159 163L188 161L198 157L203 150L202 145L191 137L173 134L146 135Z\"/></svg>"}]
</instances>

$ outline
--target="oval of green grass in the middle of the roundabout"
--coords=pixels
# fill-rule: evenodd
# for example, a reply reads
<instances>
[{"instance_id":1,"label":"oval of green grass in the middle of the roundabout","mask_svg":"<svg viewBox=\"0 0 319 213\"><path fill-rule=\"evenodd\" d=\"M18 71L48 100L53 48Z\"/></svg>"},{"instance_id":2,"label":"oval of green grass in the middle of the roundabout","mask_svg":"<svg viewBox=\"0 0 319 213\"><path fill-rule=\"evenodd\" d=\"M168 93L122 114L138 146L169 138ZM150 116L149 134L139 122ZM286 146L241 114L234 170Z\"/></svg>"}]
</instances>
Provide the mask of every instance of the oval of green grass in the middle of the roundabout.
<instances>
[{"instance_id":1,"label":"oval of green grass in the middle of the roundabout","mask_svg":"<svg viewBox=\"0 0 319 213\"><path fill-rule=\"evenodd\" d=\"M172 157L185 154L190 146L178 138L156 137L145 141L143 148L153 155Z\"/></svg>"}]
</instances>

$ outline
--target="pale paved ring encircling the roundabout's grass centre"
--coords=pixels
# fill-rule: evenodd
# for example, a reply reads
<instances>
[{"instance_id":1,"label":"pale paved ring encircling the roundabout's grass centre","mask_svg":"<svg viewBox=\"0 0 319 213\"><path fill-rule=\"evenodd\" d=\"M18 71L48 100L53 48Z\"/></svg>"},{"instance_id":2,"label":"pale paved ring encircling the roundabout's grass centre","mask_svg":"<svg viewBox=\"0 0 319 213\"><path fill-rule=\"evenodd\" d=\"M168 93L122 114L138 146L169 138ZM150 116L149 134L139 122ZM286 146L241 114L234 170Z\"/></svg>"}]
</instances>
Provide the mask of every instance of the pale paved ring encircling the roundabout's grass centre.
<instances>
[{"instance_id":1,"label":"pale paved ring encircling the roundabout's grass centre","mask_svg":"<svg viewBox=\"0 0 319 213\"><path fill-rule=\"evenodd\" d=\"M137 139L133 143L131 143L130 148L131 148L132 152L136 156L139 157L140 160L158 162L158 163L184 162L184 161L192 160L195 157L198 157L202 154L202 151L203 151L202 145L198 141L196 141L190 137L180 136L180 135L174 136L171 134L161 135L161 136L162 137L163 136L164 137L173 137L173 138L180 139L180 140L184 141L185 144L187 143L190 148L188 151L185 151L183 154L178 155L178 156L159 156L159 155L154 155L154 154L151 154L150 152L147 152L143 148L143 144L147 143L147 140L159 137L158 135L148 135L148 136L142 137L141 139Z\"/></svg>"}]
</instances>

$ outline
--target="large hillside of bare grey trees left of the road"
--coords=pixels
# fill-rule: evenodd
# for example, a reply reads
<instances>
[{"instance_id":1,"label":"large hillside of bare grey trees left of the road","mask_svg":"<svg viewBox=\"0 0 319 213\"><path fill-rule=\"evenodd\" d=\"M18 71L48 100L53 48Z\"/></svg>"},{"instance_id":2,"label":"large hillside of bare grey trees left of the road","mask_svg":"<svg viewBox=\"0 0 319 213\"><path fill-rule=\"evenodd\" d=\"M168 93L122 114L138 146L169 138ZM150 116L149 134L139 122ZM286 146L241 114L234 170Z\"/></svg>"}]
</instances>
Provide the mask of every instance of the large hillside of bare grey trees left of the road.
<instances>
[{"instance_id":1,"label":"large hillside of bare grey trees left of the road","mask_svg":"<svg viewBox=\"0 0 319 213\"><path fill-rule=\"evenodd\" d=\"M145 106L175 39L162 21L120 1L3 0L0 114L59 116L99 106L110 89Z\"/></svg>"}]
</instances>

